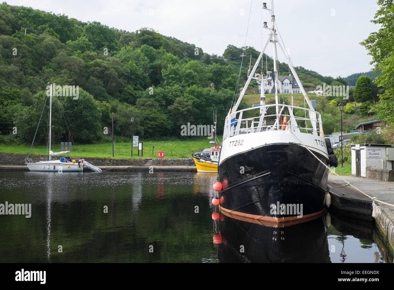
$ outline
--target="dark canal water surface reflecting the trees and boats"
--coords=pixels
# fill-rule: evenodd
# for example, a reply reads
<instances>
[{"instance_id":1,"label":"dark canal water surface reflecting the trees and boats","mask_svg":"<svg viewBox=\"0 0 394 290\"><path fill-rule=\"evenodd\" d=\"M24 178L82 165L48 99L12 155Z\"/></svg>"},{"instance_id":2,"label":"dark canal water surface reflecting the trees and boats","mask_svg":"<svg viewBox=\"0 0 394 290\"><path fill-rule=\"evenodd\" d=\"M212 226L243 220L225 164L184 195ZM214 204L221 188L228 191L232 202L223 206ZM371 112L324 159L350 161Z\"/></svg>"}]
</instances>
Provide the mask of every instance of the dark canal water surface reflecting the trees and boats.
<instances>
[{"instance_id":1,"label":"dark canal water surface reflecting the trees and boats","mask_svg":"<svg viewBox=\"0 0 394 290\"><path fill-rule=\"evenodd\" d=\"M227 217L215 178L1 172L0 204L31 204L31 217L0 215L0 262L392 262L372 228L332 214L284 228Z\"/></svg>"}]
</instances>

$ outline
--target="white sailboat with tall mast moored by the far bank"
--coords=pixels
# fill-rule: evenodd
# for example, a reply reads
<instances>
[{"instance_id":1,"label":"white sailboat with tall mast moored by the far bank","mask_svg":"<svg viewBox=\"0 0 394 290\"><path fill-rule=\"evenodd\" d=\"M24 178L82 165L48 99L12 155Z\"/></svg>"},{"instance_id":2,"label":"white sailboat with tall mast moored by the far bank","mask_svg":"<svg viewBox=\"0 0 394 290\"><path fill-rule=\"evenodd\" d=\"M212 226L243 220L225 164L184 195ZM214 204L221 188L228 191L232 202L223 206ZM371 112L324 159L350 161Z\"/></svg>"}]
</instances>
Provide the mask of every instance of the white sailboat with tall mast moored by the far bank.
<instances>
[{"instance_id":1,"label":"white sailboat with tall mast moored by the far bank","mask_svg":"<svg viewBox=\"0 0 394 290\"><path fill-rule=\"evenodd\" d=\"M44 105L45 106L45 105ZM41 120L41 119L40 119ZM38 123L39 126L39 123ZM38 131L37 126L37 131ZM36 134L37 134L36 131ZM35 137L35 136L34 136ZM41 160L34 162L29 156L25 159L25 164L30 171L46 171L46 172L63 172L63 171L76 171L82 172L84 170L84 163L86 161L82 160L72 160L69 156L60 157L60 159L52 159L54 156L64 155L70 151L52 152L52 84L50 85L50 101L49 101L49 158L48 160ZM32 142L32 146L34 139ZM31 150L31 148L30 148ZM30 153L29 153L30 155Z\"/></svg>"}]
</instances>

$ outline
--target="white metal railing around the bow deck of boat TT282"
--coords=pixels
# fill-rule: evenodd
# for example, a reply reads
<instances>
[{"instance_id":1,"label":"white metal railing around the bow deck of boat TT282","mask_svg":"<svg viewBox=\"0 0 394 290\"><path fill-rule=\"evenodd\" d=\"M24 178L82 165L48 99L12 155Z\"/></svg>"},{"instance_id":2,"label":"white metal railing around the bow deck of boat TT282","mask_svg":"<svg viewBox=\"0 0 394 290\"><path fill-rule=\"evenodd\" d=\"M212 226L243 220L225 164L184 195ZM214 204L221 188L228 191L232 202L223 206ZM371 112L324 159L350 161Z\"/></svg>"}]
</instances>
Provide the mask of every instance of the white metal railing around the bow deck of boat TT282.
<instances>
[{"instance_id":1,"label":"white metal railing around the bow deck of boat TT282","mask_svg":"<svg viewBox=\"0 0 394 290\"><path fill-rule=\"evenodd\" d=\"M279 107L279 113L267 115L267 109L270 107L275 110L275 107ZM284 109L288 110L286 114L283 113ZM242 115L249 111L251 111L251 113L255 112L252 112L252 110L258 110L262 116L242 118ZM304 112L304 116L295 116L294 110L302 110ZM287 118L286 125L283 125L280 119L284 116ZM312 116L312 118L308 118L308 116ZM231 120L229 120L230 118ZM299 121L299 123L297 123L297 121ZM245 126L242 127L242 125ZM270 130L292 130L294 132L310 133L322 137L324 136L322 116L315 110L292 105L270 104L256 105L256 107L239 110L227 115L223 131L223 140L242 133L256 133Z\"/></svg>"}]
</instances>

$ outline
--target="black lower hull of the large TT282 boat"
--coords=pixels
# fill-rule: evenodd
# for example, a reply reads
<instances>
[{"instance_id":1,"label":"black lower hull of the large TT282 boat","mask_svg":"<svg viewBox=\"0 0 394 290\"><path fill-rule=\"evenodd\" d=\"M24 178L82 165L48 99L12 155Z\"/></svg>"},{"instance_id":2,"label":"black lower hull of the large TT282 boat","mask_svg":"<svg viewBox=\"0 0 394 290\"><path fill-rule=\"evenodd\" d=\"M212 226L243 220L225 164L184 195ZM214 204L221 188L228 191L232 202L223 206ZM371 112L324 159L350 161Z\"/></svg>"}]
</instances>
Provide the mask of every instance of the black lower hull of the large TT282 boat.
<instances>
[{"instance_id":1,"label":"black lower hull of the large TT282 boat","mask_svg":"<svg viewBox=\"0 0 394 290\"><path fill-rule=\"evenodd\" d=\"M326 157L316 156L329 165ZM323 210L329 170L303 146L253 148L224 160L218 173L223 184L221 210L233 215L282 222ZM272 206L278 202L286 206L284 211Z\"/></svg>"}]
</instances>

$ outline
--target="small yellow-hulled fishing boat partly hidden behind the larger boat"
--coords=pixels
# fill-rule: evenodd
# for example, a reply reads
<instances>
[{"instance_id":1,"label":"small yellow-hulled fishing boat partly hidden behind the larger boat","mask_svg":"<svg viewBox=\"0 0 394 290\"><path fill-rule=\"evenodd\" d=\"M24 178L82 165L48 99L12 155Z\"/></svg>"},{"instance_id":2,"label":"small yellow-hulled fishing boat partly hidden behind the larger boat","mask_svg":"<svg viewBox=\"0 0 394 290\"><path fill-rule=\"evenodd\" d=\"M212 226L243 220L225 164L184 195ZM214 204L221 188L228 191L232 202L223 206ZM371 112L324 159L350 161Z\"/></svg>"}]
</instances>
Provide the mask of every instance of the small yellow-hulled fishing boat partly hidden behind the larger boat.
<instances>
[{"instance_id":1,"label":"small yellow-hulled fishing boat partly hidden behind the larger boat","mask_svg":"<svg viewBox=\"0 0 394 290\"><path fill-rule=\"evenodd\" d=\"M214 115L214 140L210 141L209 143L214 145L210 148L205 148L201 152L197 152L193 150L191 156L193 157L194 163L197 168L197 172L204 172L204 173L216 173L217 172L217 165L219 163L219 156L221 146L219 145L219 139L216 135L216 116Z\"/></svg>"}]
</instances>

